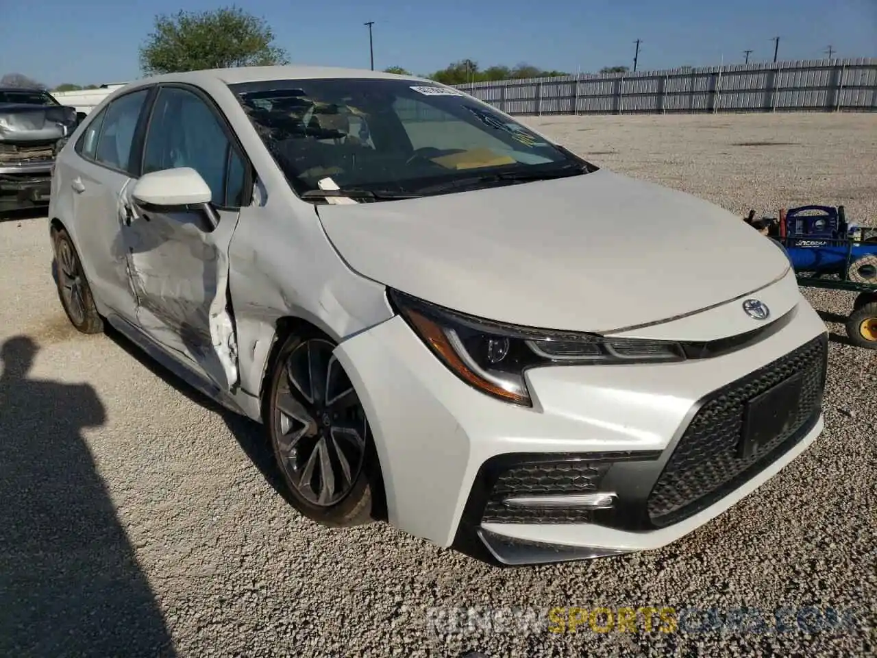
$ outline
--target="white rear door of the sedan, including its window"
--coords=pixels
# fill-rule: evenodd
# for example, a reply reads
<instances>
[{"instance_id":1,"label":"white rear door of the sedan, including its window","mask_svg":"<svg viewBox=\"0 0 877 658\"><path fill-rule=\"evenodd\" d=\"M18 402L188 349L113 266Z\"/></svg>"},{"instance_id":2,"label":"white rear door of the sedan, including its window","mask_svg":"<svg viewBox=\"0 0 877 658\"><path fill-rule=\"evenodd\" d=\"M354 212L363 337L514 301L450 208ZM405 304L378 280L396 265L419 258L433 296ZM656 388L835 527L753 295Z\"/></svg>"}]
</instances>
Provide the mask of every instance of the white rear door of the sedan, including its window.
<instances>
[{"instance_id":1,"label":"white rear door of the sedan, including its window","mask_svg":"<svg viewBox=\"0 0 877 658\"><path fill-rule=\"evenodd\" d=\"M150 88L120 96L89 122L76 140L75 155L56 167L72 195L73 230L89 284L104 304L130 322L137 305L121 235L122 192L136 171L134 137L144 118Z\"/></svg>"}]
</instances>

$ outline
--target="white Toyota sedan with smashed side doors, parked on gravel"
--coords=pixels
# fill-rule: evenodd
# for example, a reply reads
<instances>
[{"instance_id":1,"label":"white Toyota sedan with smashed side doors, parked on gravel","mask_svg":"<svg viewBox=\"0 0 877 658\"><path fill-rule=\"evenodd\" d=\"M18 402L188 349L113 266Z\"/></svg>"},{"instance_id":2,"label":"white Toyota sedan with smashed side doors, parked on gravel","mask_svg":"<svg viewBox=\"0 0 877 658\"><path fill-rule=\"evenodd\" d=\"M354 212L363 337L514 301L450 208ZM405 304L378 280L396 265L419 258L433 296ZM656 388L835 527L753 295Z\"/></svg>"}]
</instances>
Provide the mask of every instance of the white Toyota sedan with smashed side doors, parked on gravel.
<instances>
[{"instance_id":1,"label":"white Toyota sedan with smashed side doors, parked on gravel","mask_svg":"<svg viewBox=\"0 0 877 658\"><path fill-rule=\"evenodd\" d=\"M429 80L133 82L49 212L73 325L263 423L325 525L501 564L651 549L823 429L827 334L781 248Z\"/></svg>"}]
</instances>

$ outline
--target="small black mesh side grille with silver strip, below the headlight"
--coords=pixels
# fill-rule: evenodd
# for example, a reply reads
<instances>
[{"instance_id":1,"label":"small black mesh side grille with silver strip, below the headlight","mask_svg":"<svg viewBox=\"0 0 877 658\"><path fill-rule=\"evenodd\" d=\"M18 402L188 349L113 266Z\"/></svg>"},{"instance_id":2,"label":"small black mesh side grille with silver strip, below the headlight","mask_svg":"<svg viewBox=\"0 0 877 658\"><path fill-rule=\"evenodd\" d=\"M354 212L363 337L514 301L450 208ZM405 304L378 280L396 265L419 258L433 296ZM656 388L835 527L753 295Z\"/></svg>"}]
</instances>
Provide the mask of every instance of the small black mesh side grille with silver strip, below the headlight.
<instances>
[{"instance_id":1,"label":"small black mesh side grille with silver strip, below the headlight","mask_svg":"<svg viewBox=\"0 0 877 658\"><path fill-rule=\"evenodd\" d=\"M597 486L610 464L584 460L518 464L497 478L481 521L484 523L588 523L592 511L581 507L507 507L511 496L585 494Z\"/></svg>"}]
</instances>

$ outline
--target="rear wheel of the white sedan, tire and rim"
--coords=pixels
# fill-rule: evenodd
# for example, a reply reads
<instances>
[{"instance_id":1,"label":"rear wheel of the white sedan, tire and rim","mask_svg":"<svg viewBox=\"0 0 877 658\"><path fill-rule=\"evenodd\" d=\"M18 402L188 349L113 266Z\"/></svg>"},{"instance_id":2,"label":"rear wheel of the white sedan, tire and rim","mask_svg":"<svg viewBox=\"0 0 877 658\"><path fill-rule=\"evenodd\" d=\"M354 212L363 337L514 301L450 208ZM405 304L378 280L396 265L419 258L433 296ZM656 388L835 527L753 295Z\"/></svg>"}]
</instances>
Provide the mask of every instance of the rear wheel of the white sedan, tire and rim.
<instances>
[{"instance_id":1,"label":"rear wheel of the white sedan, tire and rim","mask_svg":"<svg viewBox=\"0 0 877 658\"><path fill-rule=\"evenodd\" d=\"M52 232L57 275L55 284L61 306L76 330L82 333L101 333L103 318L97 312L91 287L82 271L82 261L70 240L69 233L63 229Z\"/></svg>"}]
</instances>

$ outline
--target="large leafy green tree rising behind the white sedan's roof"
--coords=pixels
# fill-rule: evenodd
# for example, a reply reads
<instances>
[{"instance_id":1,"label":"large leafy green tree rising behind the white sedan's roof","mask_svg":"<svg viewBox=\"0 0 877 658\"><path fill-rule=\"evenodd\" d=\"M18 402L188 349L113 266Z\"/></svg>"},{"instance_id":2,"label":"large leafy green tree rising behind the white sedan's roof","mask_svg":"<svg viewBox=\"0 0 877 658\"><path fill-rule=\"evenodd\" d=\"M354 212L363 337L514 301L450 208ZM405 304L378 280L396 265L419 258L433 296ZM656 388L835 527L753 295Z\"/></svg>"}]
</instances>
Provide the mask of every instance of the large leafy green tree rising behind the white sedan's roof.
<instances>
[{"instance_id":1,"label":"large leafy green tree rising behind the white sedan's roof","mask_svg":"<svg viewBox=\"0 0 877 658\"><path fill-rule=\"evenodd\" d=\"M155 75L288 63L286 52L272 45L274 39L263 18L234 5L162 14L155 17L153 32L140 46L140 68L146 75Z\"/></svg>"}]
</instances>

